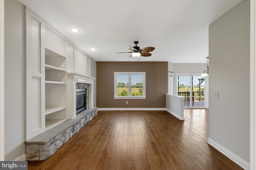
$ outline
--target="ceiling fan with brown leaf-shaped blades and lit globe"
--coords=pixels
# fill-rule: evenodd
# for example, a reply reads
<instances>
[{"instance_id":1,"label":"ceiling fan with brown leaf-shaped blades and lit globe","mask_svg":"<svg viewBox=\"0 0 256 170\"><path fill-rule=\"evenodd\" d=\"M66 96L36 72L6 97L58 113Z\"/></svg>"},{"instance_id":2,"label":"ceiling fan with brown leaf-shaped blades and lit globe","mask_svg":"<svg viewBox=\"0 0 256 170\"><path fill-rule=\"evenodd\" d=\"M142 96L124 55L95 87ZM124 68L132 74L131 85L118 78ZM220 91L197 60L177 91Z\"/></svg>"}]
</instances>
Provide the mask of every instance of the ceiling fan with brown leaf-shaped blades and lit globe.
<instances>
[{"instance_id":1,"label":"ceiling fan with brown leaf-shaped blades and lit globe","mask_svg":"<svg viewBox=\"0 0 256 170\"><path fill-rule=\"evenodd\" d=\"M144 48L140 49L140 47L137 46L138 43L139 43L139 41L134 41L134 44L135 44L134 47L132 47L130 45L126 46L128 49L132 50L132 52L122 52L122 53L132 53L130 55L130 57L140 57L140 56L149 57L149 56L151 56L151 53L149 53L149 52L153 51L155 49L155 47L144 47Z\"/></svg>"}]
</instances>

